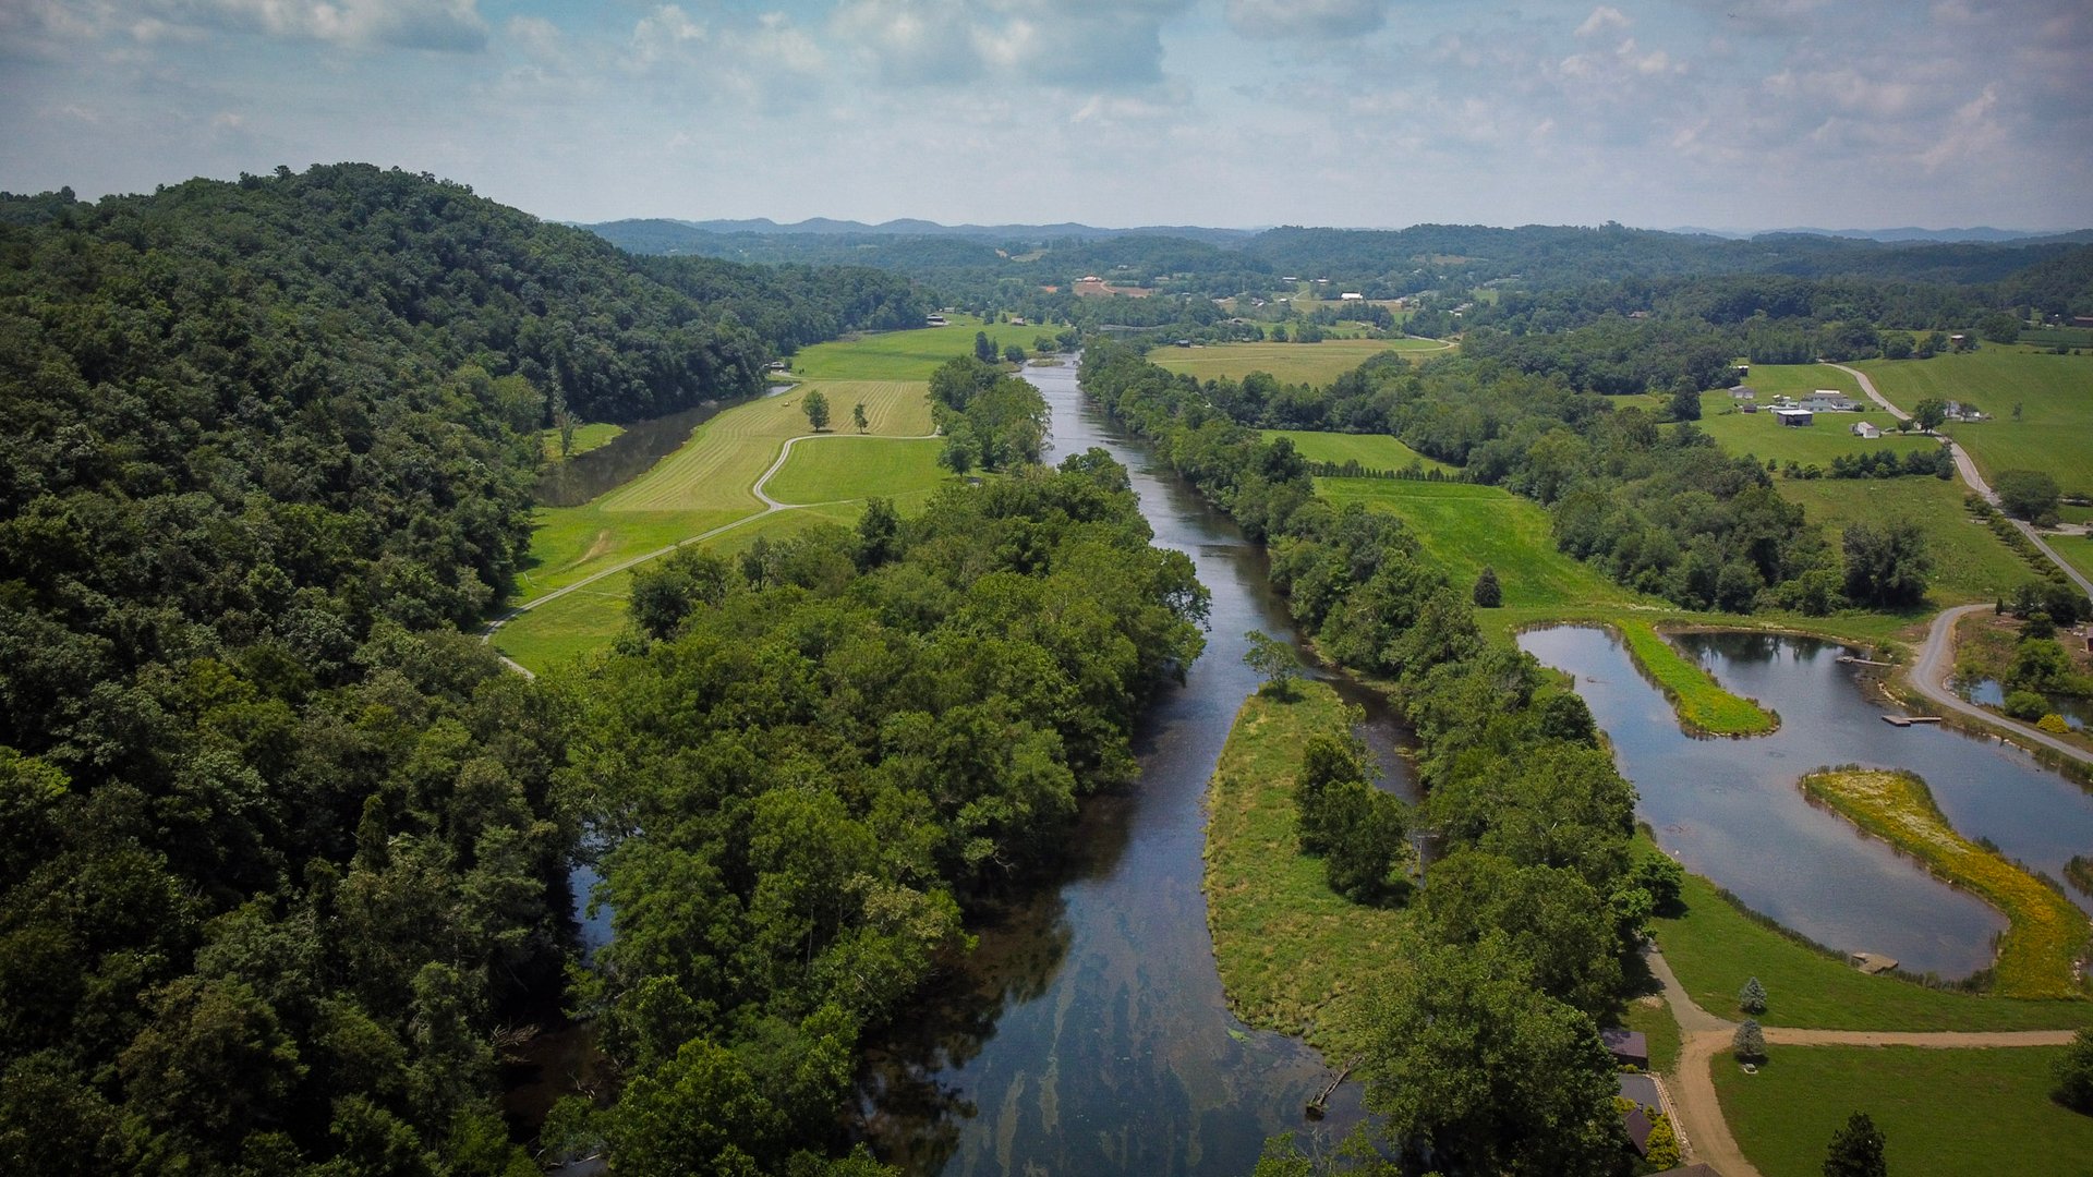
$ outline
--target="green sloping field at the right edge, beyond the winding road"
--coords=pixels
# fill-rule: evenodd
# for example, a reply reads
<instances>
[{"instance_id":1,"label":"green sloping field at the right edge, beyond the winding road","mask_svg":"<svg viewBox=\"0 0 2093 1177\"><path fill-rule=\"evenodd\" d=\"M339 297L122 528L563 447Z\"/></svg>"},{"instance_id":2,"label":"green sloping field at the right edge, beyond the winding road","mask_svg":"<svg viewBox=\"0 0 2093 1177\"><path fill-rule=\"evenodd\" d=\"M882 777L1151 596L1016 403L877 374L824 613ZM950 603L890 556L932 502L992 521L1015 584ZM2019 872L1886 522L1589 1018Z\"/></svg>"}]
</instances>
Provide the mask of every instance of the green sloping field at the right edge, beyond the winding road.
<instances>
[{"instance_id":1,"label":"green sloping field at the right edge, beyond the winding road","mask_svg":"<svg viewBox=\"0 0 2093 1177\"><path fill-rule=\"evenodd\" d=\"M1990 421L1949 423L1984 478L2041 469L2066 494L2093 494L2093 356L2045 356L1984 348L1932 360L1867 360L1861 367L1898 408L1928 396L1974 402ZM2020 421L2013 421L2020 404Z\"/></svg>"}]
</instances>

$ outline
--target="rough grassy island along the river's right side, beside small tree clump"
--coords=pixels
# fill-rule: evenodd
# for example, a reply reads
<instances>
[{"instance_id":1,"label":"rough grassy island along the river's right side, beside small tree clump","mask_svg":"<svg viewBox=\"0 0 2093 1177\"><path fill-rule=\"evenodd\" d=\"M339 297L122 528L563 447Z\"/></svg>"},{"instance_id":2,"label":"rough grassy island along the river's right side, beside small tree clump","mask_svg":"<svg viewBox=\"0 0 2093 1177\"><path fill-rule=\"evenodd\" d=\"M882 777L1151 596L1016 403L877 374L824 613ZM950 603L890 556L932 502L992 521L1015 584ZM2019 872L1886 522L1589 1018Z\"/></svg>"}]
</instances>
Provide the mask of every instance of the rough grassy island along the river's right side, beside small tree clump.
<instances>
[{"instance_id":1,"label":"rough grassy island along the river's right side, beside small tree clump","mask_svg":"<svg viewBox=\"0 0 2093 1177\"><path fill-rule=\"evenodd\" d=\"M1310 735L1344 731L1346 710L1323 683L1296 683L1296 695L1243 702L1214 767L1206 924L1229 1009L1335 1060L1350 1056L1346 1001L1388 968L1406 915L1340 896L1323 861L1300 852L1293 773Z\"/></svg>"}]
</instances>

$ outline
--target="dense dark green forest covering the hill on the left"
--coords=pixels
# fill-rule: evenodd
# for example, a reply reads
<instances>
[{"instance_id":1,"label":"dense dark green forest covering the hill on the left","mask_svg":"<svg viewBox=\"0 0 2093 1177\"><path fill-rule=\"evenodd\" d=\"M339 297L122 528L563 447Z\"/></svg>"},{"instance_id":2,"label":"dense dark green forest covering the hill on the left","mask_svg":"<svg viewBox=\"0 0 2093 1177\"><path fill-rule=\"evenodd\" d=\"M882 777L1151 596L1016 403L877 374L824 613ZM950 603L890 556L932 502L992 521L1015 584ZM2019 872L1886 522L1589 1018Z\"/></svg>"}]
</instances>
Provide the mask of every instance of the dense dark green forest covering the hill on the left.
<instances>
[{"instance_id":1,"label":"dense dark green forest covering the hill on the left","mask_svg":"<svg viewBox=\"0 0 2093 1177\"><path fill-rule=\"evenodd\" d=\"M538 429L919 295L362 165L0 214L0 1158L534 1173L496 1043L563 986L573 708L458 626Z\"/></svg>"}]
</instances>

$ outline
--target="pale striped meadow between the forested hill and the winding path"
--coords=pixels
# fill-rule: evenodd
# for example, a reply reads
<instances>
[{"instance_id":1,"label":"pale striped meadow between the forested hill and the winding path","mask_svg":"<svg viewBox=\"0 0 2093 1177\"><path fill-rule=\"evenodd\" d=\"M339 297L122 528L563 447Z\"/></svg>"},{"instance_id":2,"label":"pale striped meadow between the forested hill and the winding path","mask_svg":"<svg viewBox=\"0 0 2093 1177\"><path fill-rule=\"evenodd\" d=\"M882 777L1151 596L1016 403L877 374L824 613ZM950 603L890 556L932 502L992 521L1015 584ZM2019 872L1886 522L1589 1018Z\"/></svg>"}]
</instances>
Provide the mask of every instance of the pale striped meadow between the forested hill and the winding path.
<instances>
[{"instance_id":1,"label":"pale striped meadow between the forested hill and the winding path","mask_svg":"<svg viewBox=\"0 0 2093 1177\"><path fill-rule=\"evenodd\" d=\"M517 601L760 511L751 488L777 461L785 438L808 431L802 408L808 387L823 390L831 419L846 427L852 406L862 400L873 434L931 431L925 387L913 381L820 381L735 406L609 494L582 507L538 509Z\"/></svg>"}]
</instances>

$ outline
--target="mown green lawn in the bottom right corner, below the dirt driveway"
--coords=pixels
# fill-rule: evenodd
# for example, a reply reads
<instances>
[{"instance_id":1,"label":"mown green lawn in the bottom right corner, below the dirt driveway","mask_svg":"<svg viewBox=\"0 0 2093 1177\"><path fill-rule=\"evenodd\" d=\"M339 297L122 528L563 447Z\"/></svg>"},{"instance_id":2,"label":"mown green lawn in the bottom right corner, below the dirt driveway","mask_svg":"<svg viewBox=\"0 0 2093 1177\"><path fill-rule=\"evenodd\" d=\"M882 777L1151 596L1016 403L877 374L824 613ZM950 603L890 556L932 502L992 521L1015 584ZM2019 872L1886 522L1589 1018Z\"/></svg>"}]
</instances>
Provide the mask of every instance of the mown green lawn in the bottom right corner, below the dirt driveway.
<instances>
[{"instance_id":1,"label":"mown green lawn in the bottom right corner, below the dirt driveway","mask_svg":"<svg viewBox=\"0 0 2093 1177\"><path fill-rule=\"evenodd\" d=\"M1743 1154L1766 1177L1817 1177L1831 1135L1867 1112L1888 1171L2016 1177L2093 1171L2093 1116L2049 1100L2064 1047L1773 1047L1746 1074L1714 1060L1714 1089Z\"/></svg>"}]
</instances>

